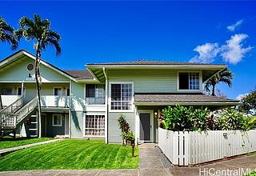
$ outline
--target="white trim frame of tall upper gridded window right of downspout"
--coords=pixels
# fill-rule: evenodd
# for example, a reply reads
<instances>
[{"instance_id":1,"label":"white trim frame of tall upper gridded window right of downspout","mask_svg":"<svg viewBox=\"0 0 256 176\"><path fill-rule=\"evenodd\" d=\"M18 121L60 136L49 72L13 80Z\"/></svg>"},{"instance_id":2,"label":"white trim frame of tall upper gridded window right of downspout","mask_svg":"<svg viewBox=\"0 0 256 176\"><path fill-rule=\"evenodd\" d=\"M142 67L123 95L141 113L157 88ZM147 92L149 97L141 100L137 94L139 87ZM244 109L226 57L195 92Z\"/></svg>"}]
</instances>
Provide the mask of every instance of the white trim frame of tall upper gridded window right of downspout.
<instances>
[{"instance_id":1,"label":"white trim frame of tall upper gridded window right of downspout","mask_svg":"<svg viewBox=\"0 0 256 176\"><path fill-rule=\"evenodd\" d=\"M111 110L111 85L112 84L131 84L131 110ZM134 112L134 82L109 82L109 98L108 98L108 104L109 104L109 112Z\"/></svg>"}]
</instances>

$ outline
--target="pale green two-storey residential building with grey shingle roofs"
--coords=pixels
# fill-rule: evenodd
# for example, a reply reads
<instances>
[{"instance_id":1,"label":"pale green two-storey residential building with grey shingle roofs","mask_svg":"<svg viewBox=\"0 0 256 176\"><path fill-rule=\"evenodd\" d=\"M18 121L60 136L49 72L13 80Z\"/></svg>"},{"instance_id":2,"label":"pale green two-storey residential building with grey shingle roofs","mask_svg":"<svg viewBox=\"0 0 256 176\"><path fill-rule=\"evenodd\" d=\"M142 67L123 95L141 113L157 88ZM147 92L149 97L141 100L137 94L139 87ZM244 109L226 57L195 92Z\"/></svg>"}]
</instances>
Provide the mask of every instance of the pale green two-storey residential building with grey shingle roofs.
<instances>
[{"instance_id":1,"label":"pale green two-storey residential building with grey shingle roofs","mask_svg":"<svg viewBox=\"0 0 256 176\"><path fill-rule=\"evenodd\" d=\"M0 132L121 142L117 118L124 114L138 142L158 142L156 117L165 106L219 109L238 104L202 94L202 83L225 65L138 61L60 70L42 60L40 121L34 59L20 50L0 62Z\"/></svg>"}]
</instances>

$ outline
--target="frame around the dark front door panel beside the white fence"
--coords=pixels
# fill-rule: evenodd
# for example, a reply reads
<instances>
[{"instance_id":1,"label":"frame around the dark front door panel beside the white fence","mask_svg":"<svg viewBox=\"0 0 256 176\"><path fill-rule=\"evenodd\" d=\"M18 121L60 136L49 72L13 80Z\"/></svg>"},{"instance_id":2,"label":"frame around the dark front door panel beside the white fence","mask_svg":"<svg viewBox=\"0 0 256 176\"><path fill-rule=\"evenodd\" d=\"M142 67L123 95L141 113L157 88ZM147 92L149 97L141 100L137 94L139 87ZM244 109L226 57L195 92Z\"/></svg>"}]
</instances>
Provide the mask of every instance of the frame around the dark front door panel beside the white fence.
<instances>
[{"instance_id":1,"label":"frame around the dark front door panel beside the white fence","mask_svg":"<svg viewBox=\"0 0 256 176\"><path fill-rule=\"evenodd\" d=\"M150 141L142 141L140 138L140 114L150 114ZM154 110L138 110L138 142L154 142Z\"/></svg>"}]
</instances>

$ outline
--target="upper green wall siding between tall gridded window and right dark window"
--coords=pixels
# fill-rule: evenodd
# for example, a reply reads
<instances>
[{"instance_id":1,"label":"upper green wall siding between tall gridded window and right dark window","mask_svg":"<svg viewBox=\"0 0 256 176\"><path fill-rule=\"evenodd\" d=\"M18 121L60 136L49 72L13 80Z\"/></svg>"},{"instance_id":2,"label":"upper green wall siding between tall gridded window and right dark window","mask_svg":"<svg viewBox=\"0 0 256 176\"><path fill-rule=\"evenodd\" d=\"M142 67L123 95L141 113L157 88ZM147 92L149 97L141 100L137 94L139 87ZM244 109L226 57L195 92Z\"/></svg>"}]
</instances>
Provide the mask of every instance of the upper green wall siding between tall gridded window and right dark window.
<instances>
[{"instance_id":1,"label":"upper green wall siding between tall gridded window and right dark window","mask_svg":"<svg viewBox=\"0 0 256 176\"><path fill-rule=\"evenodd\" d=\"M134 93L177 91L176 70L108 70L109 82L134 82Z\"/></svg>"}]
</instances>

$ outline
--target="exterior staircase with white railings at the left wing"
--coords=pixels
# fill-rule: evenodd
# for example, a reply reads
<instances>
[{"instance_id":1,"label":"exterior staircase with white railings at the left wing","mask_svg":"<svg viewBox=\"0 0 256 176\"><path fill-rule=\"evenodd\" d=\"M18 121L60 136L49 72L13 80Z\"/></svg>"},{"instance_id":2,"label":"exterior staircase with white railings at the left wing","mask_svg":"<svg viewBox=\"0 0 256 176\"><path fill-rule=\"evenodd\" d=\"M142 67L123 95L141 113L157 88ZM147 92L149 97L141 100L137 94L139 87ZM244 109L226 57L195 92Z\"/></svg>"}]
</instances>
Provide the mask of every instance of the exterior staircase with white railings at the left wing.
<instances>
[{"instance_id":1,"label":"exterior staircase with white railings at the left wing","mask_svg":"<svg viewBox=\"0 0 256 176\"><path fill-rule=\"evenodd\" d=\"M10 106L0 110L0 131L16 130L20 123L31 115L38 106L37 98L23 106L23 99L19 98Z\"/></svg>"}]
</instances>

